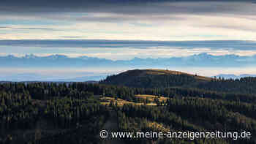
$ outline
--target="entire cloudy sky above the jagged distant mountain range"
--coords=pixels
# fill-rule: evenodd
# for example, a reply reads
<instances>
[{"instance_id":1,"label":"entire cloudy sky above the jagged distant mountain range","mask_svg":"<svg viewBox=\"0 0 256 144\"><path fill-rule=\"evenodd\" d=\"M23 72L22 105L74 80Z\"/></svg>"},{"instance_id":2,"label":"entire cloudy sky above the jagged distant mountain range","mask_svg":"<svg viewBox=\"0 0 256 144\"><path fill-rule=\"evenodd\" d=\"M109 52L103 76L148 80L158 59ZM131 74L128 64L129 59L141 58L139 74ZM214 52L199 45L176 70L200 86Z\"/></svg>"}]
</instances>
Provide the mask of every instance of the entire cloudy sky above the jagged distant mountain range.
<instances>
[{"instance_id":1,"label":"entire cloudy sky above the jagged distant mountain range","mask_svg":"<svg viewBox=\"0 0 256 144\"><path fill-rule=\"evenodd\" d=\"M253 0L1 0L0 56L253 56L255 7ZM227 69L214 75L256 74L252 67Z\"/></svg>"}]
</instances>

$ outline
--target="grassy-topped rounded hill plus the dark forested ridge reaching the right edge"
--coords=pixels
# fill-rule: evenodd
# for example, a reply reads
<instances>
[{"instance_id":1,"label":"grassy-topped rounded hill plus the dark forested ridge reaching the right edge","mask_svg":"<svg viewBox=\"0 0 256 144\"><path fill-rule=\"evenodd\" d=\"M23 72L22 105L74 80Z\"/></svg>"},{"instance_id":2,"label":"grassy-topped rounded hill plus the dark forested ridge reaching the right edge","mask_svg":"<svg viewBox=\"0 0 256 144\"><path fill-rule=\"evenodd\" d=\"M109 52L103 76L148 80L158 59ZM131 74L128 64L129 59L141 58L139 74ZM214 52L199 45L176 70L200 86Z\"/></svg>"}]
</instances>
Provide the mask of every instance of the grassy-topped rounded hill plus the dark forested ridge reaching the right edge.
<instances>
[{"instance_id":1,"label":"grassy-topped rounded hill plus the dark forested ridge reaching the right edge","mask_svg":"<svg viewBox=\"0 0 256 144\"><path fill-rule=\"evenodd\" d=\"M200 88L227 93L256 94L256 77L211 78L162 69L135 69L108 76L99 83L135 88Z\"/></svg>"}]
</instances>

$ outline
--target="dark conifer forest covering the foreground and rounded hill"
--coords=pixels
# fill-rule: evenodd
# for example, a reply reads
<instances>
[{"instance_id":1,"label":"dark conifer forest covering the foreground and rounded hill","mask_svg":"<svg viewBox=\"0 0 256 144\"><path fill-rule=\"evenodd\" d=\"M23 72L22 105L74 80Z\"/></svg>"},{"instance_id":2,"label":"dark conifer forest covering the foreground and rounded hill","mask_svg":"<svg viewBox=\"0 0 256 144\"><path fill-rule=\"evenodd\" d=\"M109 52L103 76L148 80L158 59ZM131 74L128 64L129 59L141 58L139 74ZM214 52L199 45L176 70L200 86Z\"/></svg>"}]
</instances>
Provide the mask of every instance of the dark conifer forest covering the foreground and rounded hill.
<instances>
[{"instance_id":1,"label":"dark conifer forest covering the foreground and rounded hill","mask_svg":"<svg viewBox=\"0 0 256 144\"><path fill-rule=\"evenodd\" d=\"M99 131L113 115L120 132L252 133L238 140L124 138L123 143L256 143L254 77L225 80L148 72L132 72L129 80L129 73L113 75L100 83L1 83L0 143L105 143ZM154 99L138 99L142 94ZM118 99L127 103L119 105Z\"/></svg>"}]
</instances>

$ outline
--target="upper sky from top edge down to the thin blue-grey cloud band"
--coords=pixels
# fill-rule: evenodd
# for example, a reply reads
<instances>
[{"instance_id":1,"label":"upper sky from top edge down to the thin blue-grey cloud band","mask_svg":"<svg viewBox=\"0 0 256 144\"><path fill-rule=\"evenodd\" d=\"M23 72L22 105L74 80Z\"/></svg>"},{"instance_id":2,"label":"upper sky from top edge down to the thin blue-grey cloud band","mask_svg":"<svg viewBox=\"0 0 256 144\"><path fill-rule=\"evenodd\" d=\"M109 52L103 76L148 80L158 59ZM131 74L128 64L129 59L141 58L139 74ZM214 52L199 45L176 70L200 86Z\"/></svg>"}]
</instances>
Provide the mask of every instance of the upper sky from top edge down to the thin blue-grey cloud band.
<instances>
[{"instance_id":1,"label":"upper sky from top edge down to the thin blue-grey cloud band","mask_svg":"<svg viewBox=\"0 0 256 144\"><path fill-rule=\"evenodd\" d=\"M0 2L0 39L255 40L255 1Z\"/></svg>"}]
</instances>

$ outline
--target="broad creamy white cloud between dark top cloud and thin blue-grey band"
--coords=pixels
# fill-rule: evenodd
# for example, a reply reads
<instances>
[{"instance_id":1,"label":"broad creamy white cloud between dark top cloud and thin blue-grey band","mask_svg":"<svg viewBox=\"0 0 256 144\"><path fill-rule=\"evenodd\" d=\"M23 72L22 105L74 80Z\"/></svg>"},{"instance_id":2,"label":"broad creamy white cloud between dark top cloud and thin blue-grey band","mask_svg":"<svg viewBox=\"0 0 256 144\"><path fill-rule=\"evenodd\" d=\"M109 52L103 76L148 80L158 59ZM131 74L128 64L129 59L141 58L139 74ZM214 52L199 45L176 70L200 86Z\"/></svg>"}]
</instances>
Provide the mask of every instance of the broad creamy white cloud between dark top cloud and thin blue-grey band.
<instances>
[{"instance_id":1,"label":"broad creamy white cloud between dark top cloud and thin blue-grey band","mask_svg":"<svg viewBox=\"0 0 256 144\"><path fill-rule=\"evenodd\" d=\"M243 10L246 7L243 7ZM133 39L133 40L212 40L212 39L256 39L256 16L232 13L155 13L139 15L130 13L90 12L83 15L16 16L21 24L5 29L0 39ZM1 17L1 19L4 19ZM26 20L41 20L47 24L23 25ZM0 22L1 23L1 22ZM59 31L29 30L38 27ZM27 29L27 30L17 30Z\"/></svg>"}]
</instances>

